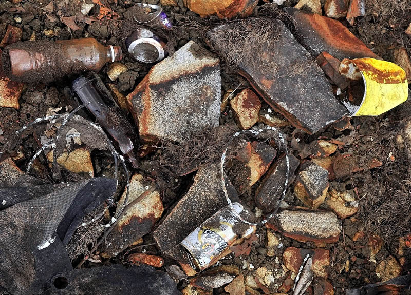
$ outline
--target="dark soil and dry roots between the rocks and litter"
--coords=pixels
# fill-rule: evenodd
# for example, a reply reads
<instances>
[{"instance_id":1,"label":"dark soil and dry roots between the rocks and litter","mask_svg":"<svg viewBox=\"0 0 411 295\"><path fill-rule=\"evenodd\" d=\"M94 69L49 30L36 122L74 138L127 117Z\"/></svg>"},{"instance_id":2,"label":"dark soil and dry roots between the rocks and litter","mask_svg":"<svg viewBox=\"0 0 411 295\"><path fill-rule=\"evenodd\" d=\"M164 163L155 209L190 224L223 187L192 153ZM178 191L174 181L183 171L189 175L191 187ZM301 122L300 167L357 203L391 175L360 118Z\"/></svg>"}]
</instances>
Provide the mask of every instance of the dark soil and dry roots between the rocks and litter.
<instances>
[{"instance_id":1,"label":"dark soil and dry roots between the rocks and litter","mask_svg":"<svg viewBox=\"0 0 411 295\"><path fill-rule=\"evenodd\" d=\"M10 23L23 28L23 41L29 40L33 35L35 35L36 40L94 37L102 44L121 45L123 52L126 52L124 40L130 32L137 28L129 9L134 5L132 1L102 1L118 14L118 17L108 15L109 17L103 17L100 22L92 24L78 22L79 29L76 31L68 30L68 27L60 22L57 13L60 14L60 17L76 15L78 13L76 9L80 1L56 0L54 2L54 10L48 11L44 9L49 4L48 1L41 3L41 0L29 0L22 1L20 4L1 1L0 23ZM168 41L167 49L170 52L177 50L189 40L194 40L204 48L208 48L203 41L203 33L208 28L223 21L215 17L201 19L195 13L184 8L182 2L182 0L179 0L177 7L163 7L169 15L174 29L173 31L158 30L158 35ZM157 1L148 1L148 3L157 4ZM286 0L284 3L285 6L294 6L295 4L296 1L292 0ZM262 7L268 5L270 4L260 1L253 15L258 15L264 10ZM8 11L12 7L23 7L25 12ZM89 15L97 14L96 6L90 11ZM51 21L50 16L54 18L55 22ZM343 21L343 23L348 25L346 21ZM399 46L405 47L408 55L411 56L411 38L404 33L410 23L411 0L366 0L366 16L358 19L356 24L350 27L350 31L359 37L373 52L385 60L393 62L393 49ZM46 36L46 30L52 30L53 36ZM99 75L105 83L116 84L120 92L127 95L150 70L150 66L135 62L128 54L124 54L121 63L125 64L128 70L122 73L116 82L110 81L107 77L107 66L99 72ZM251 88L244 78L234 73L224 61L221 61L221 77L222 94L230 89L235 89L241 82L242 85L239 89ZM4 132L0 132L0 148L12 140L10 135L13 132L35 118L45 116L49 108L63 107L60 112L65 111L66 107L71 105L71 102L64 94L64 88L69 85L69 79L54 82L47 86L43 84L27 85L27 89L20 99L20 110L0 108L0 128ZM261 103L263 108L268 108L263 100L261 100ZM72 107L74 106L71 105ZM341 153L353 153L363 159L364 162L366 159L377 158L383 163L381 167L376 169L365 170L330 182L330 189L335 188L341 192L347 191L351 195L356 195L357 200L359 200L359 212L353 218L344 220L343 232L340 235L339 242L329 244L326 247L330 251L330 265L327 268L328 281L334 287L334 294L343 294L347 288L381 281L381 278L375 272L376 265L389 255L394 255L396 259L400 259L396 250L398 239L407 233L411 233L411 168L409 168L411 146L408 145L409 133L411 132L410 111L411 101L408 100L399 107L378 117L355 117L351 119L352 127L347 130L338 131L333 126L329 126L314 135L295 131L291 127L281 128L288 135L288 143L291 143L293 137L300 139L299 145L293 146L294 154L303 154L304 145L315 139L338 139L349 143L341 147L339 150ZM89 120L93 120L86 112L82 111L80 114ZM129 119L131 122L131 116L129 116ZM188 173L190 169L186 169L185 172L188 174L179 176L182 174L181 168L218 160L218 154L222 150L225 139L228 134L232 134L231 132L236 130L229 107L226 107L225 111L221 113L220 125L223 124L230 125L230 132L213 130L198 134L198 136L194 136L189 148L187 145L163 142L161 149L142 158L140 166L137 169L132 169L133 172L140 172L147 179L156 180L161 191L164 212L175 204L192 183L195 173ZM20 141L12 143L14 152L11 154L22 170L26 170L29 160L33 157L35 151L39 149L40 142L38 139L45 128L45 125L38 125L31 131L24 133ZM409 144L411 144L411 141L409 141ZM209 147L207 149L209 153L204 153L204 147ZM32 173L39 178L51 182L79 179L78 175L65 171L62 173L61 178L56 180L52 176L45 157L40 155L38 159ZM105 175L110 177L113 175L113 160L111 160L110 153L94 150L92 159L94 159L95 176ZM192 161L187 159L196 160L193 164ZM174 181L176 179L178 181ZM115 199L121 195L125 180L122 179L120 184ZM255 207L253 196L255 187L258 187L258 184L241 197L241 200L252 208ZM293 196L292 189L288 190L285 201L291 205L302 205ZM320 208L326 208L326 205L322 205ZM111 212L114 210L114 207L110 209ZM359 232L364 232L364 235L358 234ZM370 258L368 241L372 237L371 234L378 234L383 241L381 251L374 258ZM73 242L68 245L74 266L89 267L115 262L125 263L125 252L120 253L116 258L103 259L102 263L84 262L85 255L92 254L87 249L91 248L90 245L97 240L98 235L98 233L92 231L74 234ZM276 235L281 237L279 234ZM83 237L83 240L76 240L81 237ZM234 254L230 254L221 260L219 264L235 264L245 276L254 274L259 267L265 266L268 270L272 270L275 276L278 269L282 269L281 257L287 247L312 248L309 243L300 243L282 237L282 247L275 249L275 255L269 257L266 255L268 250L267 229L260 227L256 232L256 237L256 241L251 245L249 255L239 255L239 257L234 258ZM84 244L86 244L86 247ZM154 245L151 234L143 237L143 243L140 246L128 249L126 253L141 251L161 255L159 249ZM410 254L409 252L404 254L406 257L402 272L404 274L409 273L410 270ZM175 264L175 262L165 260L165 265L171 264ZM285 277L275 279L276 286L272 285L270 292L277 292L284 279ZM186 284L185 281L180 281L179 289L184 288ZM213 294L226 293L223 288L217 288L214 289Z\"/></svg>"}]
</instances>

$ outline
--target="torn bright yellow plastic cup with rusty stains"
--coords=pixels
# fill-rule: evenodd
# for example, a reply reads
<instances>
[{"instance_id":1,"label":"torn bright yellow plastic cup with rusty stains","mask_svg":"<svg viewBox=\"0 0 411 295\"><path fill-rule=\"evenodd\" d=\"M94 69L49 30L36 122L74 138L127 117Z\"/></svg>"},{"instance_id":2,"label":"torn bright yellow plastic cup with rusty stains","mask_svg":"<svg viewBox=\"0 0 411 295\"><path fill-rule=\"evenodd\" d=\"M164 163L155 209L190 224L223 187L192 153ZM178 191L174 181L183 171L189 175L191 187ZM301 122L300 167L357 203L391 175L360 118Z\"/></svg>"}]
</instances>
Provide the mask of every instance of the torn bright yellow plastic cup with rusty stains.
<instances>
[{"instance_id":1,"label":"torn bright yellow plastic cup with rusty stains","mask_svg":"<svg viewBox=\"0 0 411 295\"><path fill-rule=\"evenodd\" d=\"M348 78L357 80L362 77L364 81L361 105L344 102L351 116L378 116L407 100L406 74L396 64L374 58L346 58L339 70Z\"/></svg>"}]
</instances>

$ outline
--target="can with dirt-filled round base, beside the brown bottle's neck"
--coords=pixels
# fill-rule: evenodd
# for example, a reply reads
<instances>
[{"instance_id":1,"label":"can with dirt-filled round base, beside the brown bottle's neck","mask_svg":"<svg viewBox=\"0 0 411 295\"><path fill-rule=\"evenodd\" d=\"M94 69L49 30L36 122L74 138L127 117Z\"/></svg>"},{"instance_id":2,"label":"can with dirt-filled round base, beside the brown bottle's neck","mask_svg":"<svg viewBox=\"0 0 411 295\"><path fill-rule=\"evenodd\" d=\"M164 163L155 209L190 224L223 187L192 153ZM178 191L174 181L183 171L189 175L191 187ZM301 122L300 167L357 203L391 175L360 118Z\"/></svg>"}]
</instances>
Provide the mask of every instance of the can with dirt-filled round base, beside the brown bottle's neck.
<instances>
[{"instance_id":1,"label":"can with dirt-filled round base, beside the brown bottle's neck","mask_svg":"<svg viewBox=\"0 0 411 295\"><path fill-rule=\"evenodd\" d=\"M151 64L165 56L164 43L150 30L139 28L125 40L128 53L139 62Z\"/></svg>"}]
</instances>

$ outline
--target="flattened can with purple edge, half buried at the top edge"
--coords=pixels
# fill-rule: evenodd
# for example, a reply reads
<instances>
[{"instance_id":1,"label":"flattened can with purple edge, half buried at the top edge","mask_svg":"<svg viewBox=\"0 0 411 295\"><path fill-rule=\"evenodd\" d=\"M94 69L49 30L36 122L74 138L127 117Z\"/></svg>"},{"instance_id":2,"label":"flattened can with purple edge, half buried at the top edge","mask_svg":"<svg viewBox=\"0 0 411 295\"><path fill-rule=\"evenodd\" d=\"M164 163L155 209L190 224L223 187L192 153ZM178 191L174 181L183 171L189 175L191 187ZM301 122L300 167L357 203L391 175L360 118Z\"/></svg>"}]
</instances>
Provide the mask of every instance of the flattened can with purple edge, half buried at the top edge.
<instances>
[{"instance_id":1,"label":"flattened can with purple edge, half buried at the top edge","mask_svg":"<svg viewBox=\"0 0 411 295\"><path fill-rule=\"evenodd\" d=\"M159 5L137 3L132 9L132 13L134 20L139 24L147 24L156 29L171 29L173 27L167 14Z\"/></svg>"}]
</instances>

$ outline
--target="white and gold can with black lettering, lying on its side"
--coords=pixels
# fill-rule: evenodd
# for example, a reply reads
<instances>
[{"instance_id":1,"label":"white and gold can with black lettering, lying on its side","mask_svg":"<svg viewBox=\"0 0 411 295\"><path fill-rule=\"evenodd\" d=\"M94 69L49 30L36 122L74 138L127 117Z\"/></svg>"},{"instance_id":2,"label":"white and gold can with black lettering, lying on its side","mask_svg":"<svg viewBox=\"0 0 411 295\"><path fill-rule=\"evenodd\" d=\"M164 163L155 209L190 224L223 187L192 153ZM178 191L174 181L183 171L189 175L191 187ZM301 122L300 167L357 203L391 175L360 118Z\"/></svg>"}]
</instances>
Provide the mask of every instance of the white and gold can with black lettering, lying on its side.
<instances>
[{"instance_id":1,"label":"white and gold can with black lettering, lying on its side","mask_svg":"<svg viewBox=\"0 0 411 295\"><path fill-rule=\"evenodd\" d=\"M255 225L239 218L238 214L244 210L242 205L236 202L232 205L234 210L229 205L223 207L179 244L184 259L195 270L214 264L236 240L255 231Z\"/></svg>"}]
</instances>

